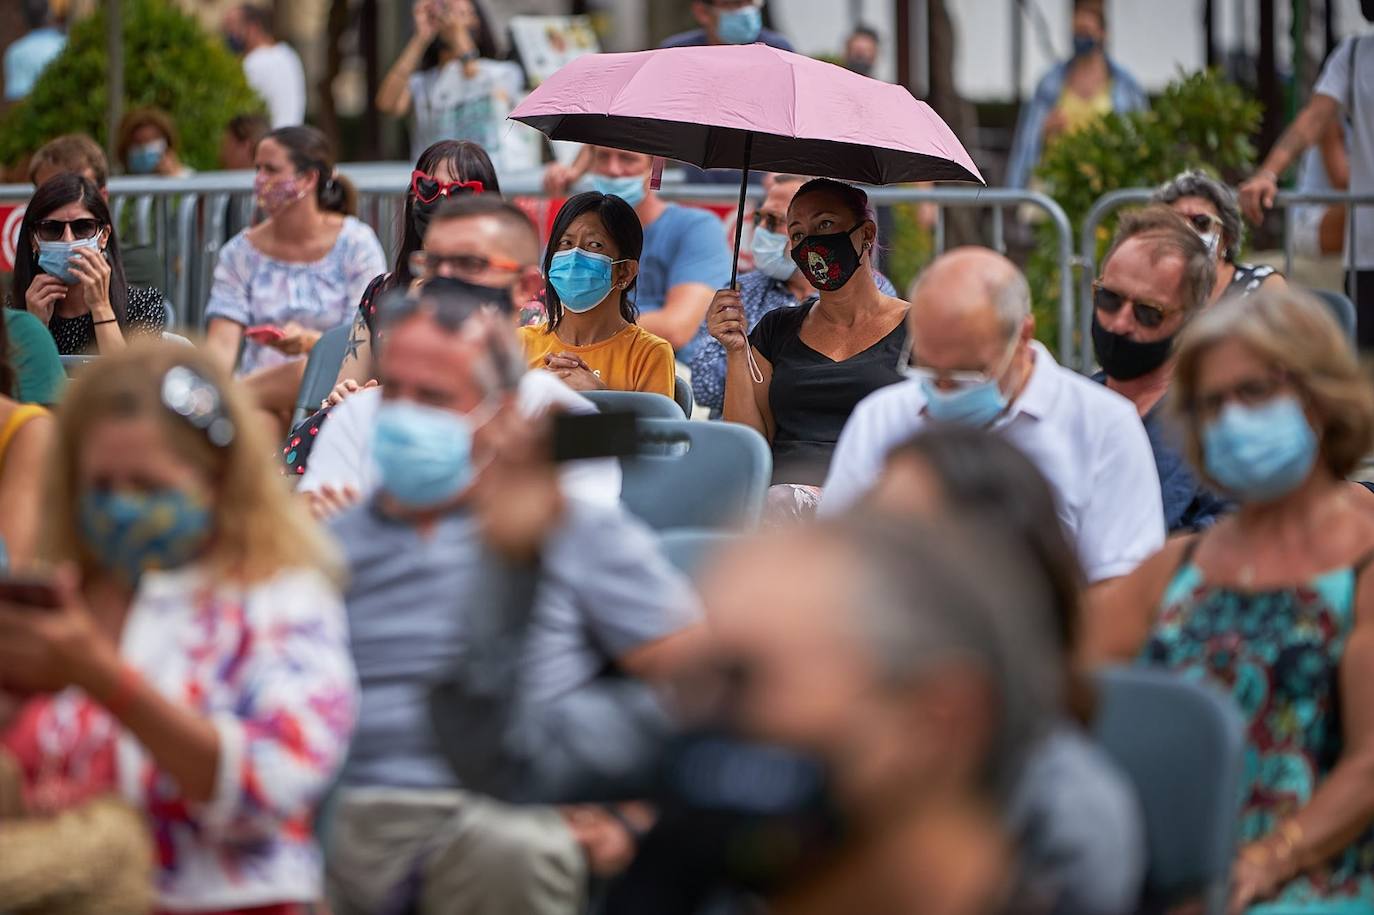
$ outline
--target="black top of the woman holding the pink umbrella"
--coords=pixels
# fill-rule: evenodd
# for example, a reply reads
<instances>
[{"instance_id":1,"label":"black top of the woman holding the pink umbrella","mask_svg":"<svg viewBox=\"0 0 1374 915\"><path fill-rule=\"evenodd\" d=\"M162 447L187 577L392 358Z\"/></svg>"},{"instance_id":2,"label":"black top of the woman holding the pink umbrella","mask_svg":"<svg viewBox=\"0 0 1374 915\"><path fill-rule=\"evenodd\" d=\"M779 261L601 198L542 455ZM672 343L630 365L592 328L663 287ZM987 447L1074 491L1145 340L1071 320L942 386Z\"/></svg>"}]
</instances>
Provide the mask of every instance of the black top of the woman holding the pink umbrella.
<instances>
[{"instance_id":1,"label":"black top of the woman holding the pink umbrella","mask_svg":"<svg viewBox=\"0 0 1374 915\"><path fill-rule=\"evenodd\" d=\"M750 345L772 365L768 407L774 415L774 482L820 486L835 442L859 401L903 379L907 321L842 363L801 339L815 301L768 312L749 334Z\"/></svg>"}]
</instances>

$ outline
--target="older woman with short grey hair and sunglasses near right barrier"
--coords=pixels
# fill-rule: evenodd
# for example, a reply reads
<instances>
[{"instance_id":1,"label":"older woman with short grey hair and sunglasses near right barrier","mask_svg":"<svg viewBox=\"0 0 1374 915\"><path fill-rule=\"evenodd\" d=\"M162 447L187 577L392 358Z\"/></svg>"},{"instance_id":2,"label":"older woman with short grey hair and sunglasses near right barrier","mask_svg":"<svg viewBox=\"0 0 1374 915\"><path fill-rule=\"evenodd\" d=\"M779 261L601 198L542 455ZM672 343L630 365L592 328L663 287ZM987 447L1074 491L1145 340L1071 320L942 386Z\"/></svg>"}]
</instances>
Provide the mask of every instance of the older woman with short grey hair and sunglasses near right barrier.
<instances>
[{"instance_id":1,"label":"older woman with short grey hair and sunglasses near right barrier","mask_svg":"<svg viewBox=\"0 0 1374 915\"><path fill-rule=\"evenodd\" d=\"M1161 184L1151 198L1186 218L1216 257L1216 284L1209 302L1223 295L1249 295L1257 290L1287 287L1283 275L1272 267L1242 264L1241 243L1245 224L1235 192L1204 172L1183 172Z\"/></svg>"}]
</instances>

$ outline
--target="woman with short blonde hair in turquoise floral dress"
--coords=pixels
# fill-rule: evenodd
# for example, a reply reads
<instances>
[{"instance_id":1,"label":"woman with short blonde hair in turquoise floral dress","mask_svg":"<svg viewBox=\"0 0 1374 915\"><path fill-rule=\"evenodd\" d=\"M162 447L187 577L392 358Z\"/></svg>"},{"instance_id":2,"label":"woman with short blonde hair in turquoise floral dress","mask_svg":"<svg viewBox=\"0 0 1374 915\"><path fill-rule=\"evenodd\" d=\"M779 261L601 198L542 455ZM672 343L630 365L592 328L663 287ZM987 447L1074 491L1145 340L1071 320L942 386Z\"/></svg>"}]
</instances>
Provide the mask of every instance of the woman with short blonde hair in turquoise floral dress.
<instances>
[{"instance_id":1,"label":"woman with short blonde hair in turquoise floral dress","mask_svg":"<svg viewBox=\"0 0 1374 915\"><path fill-rule=\"evenodd\" d=\"M1374 515L1345 481L1374 394L1320 304L1270 291L1184 328L1172 392L1198 474L1239 508L1140 566L1090 639L1245 714L1232 912L1374 911Z\"/></svg>"}]
</instances>

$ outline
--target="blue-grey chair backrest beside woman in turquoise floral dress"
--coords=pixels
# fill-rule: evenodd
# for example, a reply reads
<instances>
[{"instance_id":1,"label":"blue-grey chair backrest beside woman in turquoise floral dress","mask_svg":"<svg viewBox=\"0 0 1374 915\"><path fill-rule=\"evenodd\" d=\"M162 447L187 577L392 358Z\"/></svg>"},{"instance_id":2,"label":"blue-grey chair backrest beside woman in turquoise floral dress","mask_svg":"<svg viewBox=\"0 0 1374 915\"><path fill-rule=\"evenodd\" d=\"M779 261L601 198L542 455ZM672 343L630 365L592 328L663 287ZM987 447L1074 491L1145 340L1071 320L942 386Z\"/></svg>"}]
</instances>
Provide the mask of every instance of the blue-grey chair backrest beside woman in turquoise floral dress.
<instances>
[{"instance_id":1,"label":"blue-grey chair backrest beside woman in turquoise floral dress","mask_svg":"<svg viewBox=\"0 0 1374 915\"><path fill-rule=\"evenodd\" d=\"M1167 670L1098 677L1098 741L1135 783L1145 812L1147 905L1202 896L1226 912L1235 860L1245 723L1231 697Z\"/></svg>"}]
</instances>

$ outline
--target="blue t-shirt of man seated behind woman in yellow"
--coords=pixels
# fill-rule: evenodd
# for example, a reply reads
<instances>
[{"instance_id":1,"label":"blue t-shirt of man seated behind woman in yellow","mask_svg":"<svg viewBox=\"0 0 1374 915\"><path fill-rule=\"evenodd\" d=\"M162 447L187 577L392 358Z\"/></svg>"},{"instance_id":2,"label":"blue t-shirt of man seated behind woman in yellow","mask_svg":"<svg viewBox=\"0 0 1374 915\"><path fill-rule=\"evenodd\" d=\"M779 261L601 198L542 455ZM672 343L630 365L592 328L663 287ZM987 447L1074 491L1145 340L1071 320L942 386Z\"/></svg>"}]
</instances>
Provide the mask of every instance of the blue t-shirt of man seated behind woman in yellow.
<instances>
[{"instance_id":1,"label":"blue t-shirt of man seated behind woman in yellow","mask_svg":"<svg viewBox=\"0 0 1374 915\"><path fill-rule=\"evenodd\" d=\"M635 293L640 315L661 310L668 290L683 283L723 289L730 282L730 257L725 229L714 213L669 203L664 214L644 228ZM687 361L692 353L695 341L688 342L677 357Z\"/></svg>"}]
</instances>

